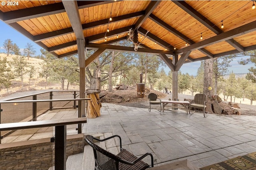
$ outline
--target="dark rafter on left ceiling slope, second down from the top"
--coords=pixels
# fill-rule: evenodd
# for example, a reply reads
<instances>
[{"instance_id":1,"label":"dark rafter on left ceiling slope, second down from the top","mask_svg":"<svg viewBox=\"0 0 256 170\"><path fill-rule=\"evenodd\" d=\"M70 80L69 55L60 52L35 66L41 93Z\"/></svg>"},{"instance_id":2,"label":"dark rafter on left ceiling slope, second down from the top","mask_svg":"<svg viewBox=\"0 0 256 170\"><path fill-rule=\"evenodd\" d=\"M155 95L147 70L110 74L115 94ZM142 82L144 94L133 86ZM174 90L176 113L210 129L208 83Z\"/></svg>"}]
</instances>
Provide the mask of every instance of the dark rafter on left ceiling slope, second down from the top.
<instances>
[{"instance_id":1,"label":"dark rafter on left ceiling slope, second down from the top","mask_svg":"<svg viewBox=\"0 0 256 170\"><path fill-rule=\"evenodd\" d=\"M139 17L139 16L142 16L144 14L145 14L145 11L140 11L140 12L134 12L134 13L131 13L131 14L126 14L126 15L123 15L123 16L113 17L111 23L115 23L115 22L123 21L123 20L128 20L128 19L135 18L135 17ZM105 20L94 21L94 22L90 22L90 23L84 23L84 24L82 24L82 29L86 30L86 29L98 27L98 26L101 26L101 25L106 25L106 24L108 24L108 21L109 21L109 19L105 19ZM44 33L44 34L40 34L40 35L35 35L33 40L35 42L38 42L38 41L42 41L42 40L46 40L46 39L66 35L66 34L69 34L69 33L74 33L72 27L57 30L57 31L52 31L52 32Z\"/></svg>"}]
</instances>

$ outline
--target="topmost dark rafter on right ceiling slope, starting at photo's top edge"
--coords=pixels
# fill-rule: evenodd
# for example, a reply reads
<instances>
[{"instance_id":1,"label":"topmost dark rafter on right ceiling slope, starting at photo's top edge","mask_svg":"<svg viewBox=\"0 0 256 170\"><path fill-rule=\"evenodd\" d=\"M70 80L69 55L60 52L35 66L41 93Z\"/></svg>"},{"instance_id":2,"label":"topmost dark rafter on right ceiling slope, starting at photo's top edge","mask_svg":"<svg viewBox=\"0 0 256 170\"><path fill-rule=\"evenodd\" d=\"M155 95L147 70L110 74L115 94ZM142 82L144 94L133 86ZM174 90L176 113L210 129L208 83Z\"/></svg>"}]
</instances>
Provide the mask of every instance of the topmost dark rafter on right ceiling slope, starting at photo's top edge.
<instances>
[{"instance_id":1,"label":"topmost dark rafter on right ceiling slope, starting at photo's top edge","mask_svg":"<svg viewBox=\"0 0 256 170\"><path fill-rule=\"evenodd\" d=\"M214 23L212 23L210 20L205 18L202 14L200 14L190 5L188 5L186 2L184 1L172 1L172 2L174 2L174 4L182 8L182 10L190 14L192 17L194 17L196 20L198 20L200 23L202 23L204 26L206 26L208 29L210 29L217 35L224 32L219 27L217 27ZM240 52L244 51L244 47L240 45L238 42L236 42L234 39L227 39L226 42L232 45L238 51Z\"/></svg>"}]
</instances>

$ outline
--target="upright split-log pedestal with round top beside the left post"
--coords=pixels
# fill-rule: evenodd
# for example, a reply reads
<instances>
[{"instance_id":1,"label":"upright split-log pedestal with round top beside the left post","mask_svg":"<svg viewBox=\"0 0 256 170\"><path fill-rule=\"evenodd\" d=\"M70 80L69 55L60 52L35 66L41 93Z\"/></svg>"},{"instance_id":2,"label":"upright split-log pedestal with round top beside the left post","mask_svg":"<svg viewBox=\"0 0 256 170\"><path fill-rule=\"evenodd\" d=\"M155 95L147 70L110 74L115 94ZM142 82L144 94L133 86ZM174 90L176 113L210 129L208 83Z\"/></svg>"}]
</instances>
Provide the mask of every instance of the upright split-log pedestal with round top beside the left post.
<instances>
[{"instance_id":1,"label":"upright split-log pedestal with round top beside the left post","mask_svg":"<svg viewBox=\"0 0 256 170\"><path fill-rule=\"evenodd\" d=\"M100 102L100 95L98 90L86 91L88 100L86 115L88 118L96 118L100 116L100 108L102 107Z\"/></svg>"}]
</instances>

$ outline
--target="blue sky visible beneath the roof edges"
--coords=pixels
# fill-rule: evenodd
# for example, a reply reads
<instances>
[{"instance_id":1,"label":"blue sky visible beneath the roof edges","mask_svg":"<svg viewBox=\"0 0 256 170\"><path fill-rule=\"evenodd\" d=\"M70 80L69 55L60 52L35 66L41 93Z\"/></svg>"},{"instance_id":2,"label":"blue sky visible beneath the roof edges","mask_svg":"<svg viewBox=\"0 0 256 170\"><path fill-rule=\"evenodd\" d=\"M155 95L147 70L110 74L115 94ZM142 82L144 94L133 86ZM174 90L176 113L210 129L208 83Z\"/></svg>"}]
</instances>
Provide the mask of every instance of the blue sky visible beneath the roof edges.
<instances>
[{"instance_id":1,"label":"blue sky visible beneath the roof edges","mask_svg":"<svg viewBox=\"0 0 256 170\"><path fill-rule=\"evenodd\" d=\"M18 31L16 31L15 29L7 25L3 21L0 21L0 53L6 52L5 49L3 49L3 43L4 43L4 40L6 39L11 39L13 43L16 43L20 48L20 52L22 54L23 54L23 49L26 48L25 47L26 44L31 43L36 49L36 55L41 55L40 49L42 47L40 47L39 45L37 45L36 43L34 43L33 41L25 37ZM237 57L236 59L234 59L234 61L232 61L232 63L230 63L232 66L228 70L230 72L233 71L234 73L247 73L248 68L254 66L254 64L249 63L249 64L246 64L245 66L238 64L238 61L246 58L248 57ZM183 64L182 67L180 68L180 71L184 74L188 72L188 74L196 76L196 73L200 64L201 64L200 61ZM164 70L166 71L166 73L168 73L170 71L170 68L166 67L164 68Z\"/></svg>"}]
</instances>

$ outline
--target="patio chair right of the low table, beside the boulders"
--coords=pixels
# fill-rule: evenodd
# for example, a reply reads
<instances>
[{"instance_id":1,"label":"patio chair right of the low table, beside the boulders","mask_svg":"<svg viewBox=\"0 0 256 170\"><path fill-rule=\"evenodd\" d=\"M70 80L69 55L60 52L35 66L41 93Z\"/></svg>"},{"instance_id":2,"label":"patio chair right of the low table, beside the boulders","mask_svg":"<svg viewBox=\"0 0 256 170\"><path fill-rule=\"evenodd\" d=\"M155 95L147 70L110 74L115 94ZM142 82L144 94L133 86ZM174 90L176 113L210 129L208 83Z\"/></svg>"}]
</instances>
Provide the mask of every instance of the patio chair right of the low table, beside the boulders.
<instances>
[{"instance_id":1,"label":"patio chair right of the low table, beside the boulders","mask_svg":"<svg viewBox=\"0 0 256 170\"><path fill-rule=\"evenodd\" d=\"M194 100L191 100L189 105L189 114L193 114L196 110L190 113L190 109L196 108L201 109L197 111L202 111L204 113L204 117L208 116L208 112L205 112L206 109L207 96L205 94L196 94Z\"/></svg>"}]
</instances>

